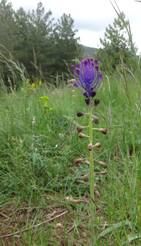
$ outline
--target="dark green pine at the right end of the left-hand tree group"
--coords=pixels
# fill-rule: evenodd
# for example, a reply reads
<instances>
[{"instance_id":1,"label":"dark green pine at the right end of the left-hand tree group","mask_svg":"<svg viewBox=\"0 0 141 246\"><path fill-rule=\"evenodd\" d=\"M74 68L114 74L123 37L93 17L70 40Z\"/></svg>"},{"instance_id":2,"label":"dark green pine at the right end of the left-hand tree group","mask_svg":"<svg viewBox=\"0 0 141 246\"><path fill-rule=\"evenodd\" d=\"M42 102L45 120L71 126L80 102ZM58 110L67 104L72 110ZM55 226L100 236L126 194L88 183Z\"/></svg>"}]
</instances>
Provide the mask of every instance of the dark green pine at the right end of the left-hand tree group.
<instances>
[{"instance_id":1,"label":"dark green pine at the right end of the left-hand tree group","mask_svg":"<svg viewBox=\"0 0 141 246\"><path fill-rule=\"evenodd\" d=\"M67 71L66 63L72 63L72 59L80 56L80 46L76 37L77 30L70 15L63 14L55 25L55 67L58 72Z\"/></svg>"}]
</instances>

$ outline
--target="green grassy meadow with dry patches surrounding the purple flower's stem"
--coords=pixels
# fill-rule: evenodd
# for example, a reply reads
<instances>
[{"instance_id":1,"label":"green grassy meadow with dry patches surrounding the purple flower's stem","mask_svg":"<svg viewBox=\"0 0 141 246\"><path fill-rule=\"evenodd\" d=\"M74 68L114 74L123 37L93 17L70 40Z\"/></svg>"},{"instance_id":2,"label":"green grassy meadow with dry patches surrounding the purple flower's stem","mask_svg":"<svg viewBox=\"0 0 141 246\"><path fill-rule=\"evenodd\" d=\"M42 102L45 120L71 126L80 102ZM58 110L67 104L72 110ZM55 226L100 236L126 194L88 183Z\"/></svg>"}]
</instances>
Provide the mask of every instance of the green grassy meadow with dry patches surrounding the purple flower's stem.
<instances>
[{"instance_id":1,"label":"green grassy meadow with dry patches surrounding the purple flower's stem","mask_svg":"<svg viewBox=\"0 0 141 246\"><path fill-rule=\"evenodd\" d=\"M46 95L51 110L40 102ZM121 79L105 78L97 93L99 127L109 129L106 136L94 133L102 144L95 160L106 163L95 162L98 246L141 244L139 238L129 242L141 231L140 95L138 78L128 79L128 91ZM81 92L67 86L1 93L0 245L90 245L89 167L74 163L87 157L73 124L87 123L78 111L87 112Z\"/></svg>"}]
</instances>

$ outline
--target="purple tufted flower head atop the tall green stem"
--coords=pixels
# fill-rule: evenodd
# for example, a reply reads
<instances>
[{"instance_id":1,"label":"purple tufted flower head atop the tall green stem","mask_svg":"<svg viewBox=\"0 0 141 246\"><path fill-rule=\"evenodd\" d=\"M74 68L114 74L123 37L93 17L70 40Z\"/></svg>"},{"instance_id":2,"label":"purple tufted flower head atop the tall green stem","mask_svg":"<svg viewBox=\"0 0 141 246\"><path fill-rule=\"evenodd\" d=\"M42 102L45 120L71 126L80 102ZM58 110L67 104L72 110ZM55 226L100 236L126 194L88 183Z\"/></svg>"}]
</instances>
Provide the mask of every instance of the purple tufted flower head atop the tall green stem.
<instances>
[{"instance_id":1,"label":"purple tufted flower head atop the tall green stem","mask_svg":"<svg viewBox=\"0 0 141 246\"><path fill-rule=\"evenodd\" d=\"M82 87L87 99L90 100L90 97L94 97L102 80L99 62L92 58L85 58L80 64L72 65L72 72L76 78L74 86Z\"/></svg>"}]
</instances>

